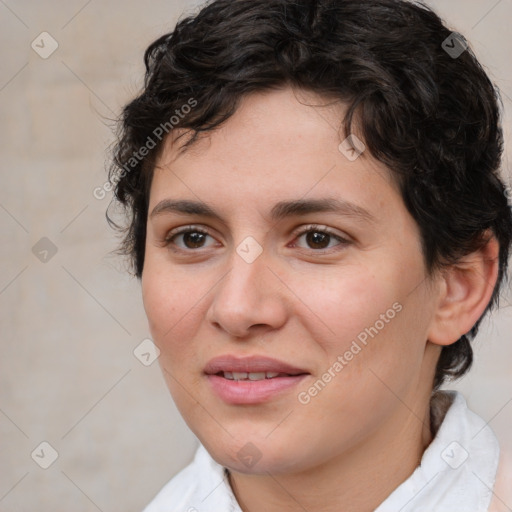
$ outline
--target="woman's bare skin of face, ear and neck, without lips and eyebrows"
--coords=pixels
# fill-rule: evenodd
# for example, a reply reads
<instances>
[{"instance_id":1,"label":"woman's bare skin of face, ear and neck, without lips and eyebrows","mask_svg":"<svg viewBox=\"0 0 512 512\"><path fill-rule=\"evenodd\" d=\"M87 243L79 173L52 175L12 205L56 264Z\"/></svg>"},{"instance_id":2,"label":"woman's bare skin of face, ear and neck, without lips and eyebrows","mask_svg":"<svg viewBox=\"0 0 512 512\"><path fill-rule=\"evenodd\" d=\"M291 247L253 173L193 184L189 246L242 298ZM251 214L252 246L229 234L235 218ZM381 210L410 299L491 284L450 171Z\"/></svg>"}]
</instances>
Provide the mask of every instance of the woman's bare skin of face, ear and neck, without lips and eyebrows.
<instances>
[{"instance_id":1,"label":"woman's bare skin of face, ear and neck, without lips and eyebrows","mask_svg":"<svg viewBox=\"0 0 512 512\"><path fill-rule=\"evenodd\" d=\"M149 327L177 407L229 468L244 511L374 510L431 442L441 347L469 331L496 279L494 241L427 275L418 226L389 171L369 151L350 161L338 149L343 112L290 88L252 94L185 153L185 137L176 140L184 132L174 132L151 185L142 274ZM354 203L371 220L331 212L270 219L278 201L324 197ZM223 220L151 215L170 198L206 202ZM309 224L348 242L298 236ZM169 242L171 231L190 225L208 236ZM248 236L263 248L252 263L236 251ZM395 303L401 311L300 403L298 393ZM269 356L310 375L265 403L230 405L203 373L223 354ZM248 442L261 454L252 467L237 456Z\"/></svg>"}]
</instances>

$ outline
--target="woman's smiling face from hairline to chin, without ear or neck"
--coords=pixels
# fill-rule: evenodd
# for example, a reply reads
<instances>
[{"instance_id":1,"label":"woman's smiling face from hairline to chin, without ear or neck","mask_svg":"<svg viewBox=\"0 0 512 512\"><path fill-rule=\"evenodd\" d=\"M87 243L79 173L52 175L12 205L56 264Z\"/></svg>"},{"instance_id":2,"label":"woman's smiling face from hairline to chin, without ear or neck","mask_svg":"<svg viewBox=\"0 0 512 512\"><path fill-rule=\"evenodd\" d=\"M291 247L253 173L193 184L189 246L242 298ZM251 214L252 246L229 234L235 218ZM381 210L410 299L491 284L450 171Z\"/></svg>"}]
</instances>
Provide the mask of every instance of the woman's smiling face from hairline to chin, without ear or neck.
<instances>
[{"instance_id":1,"label":"woman's smiling face from hairline to chin, without ear or neck","mask_svg":"<svg viewBox=\"0 0 512 512\"><path fill-rule=\"evenodd\" d=\"M169 139L155 169L151 334L185 421L234 471L307 471L405 435L432 387L419 231L389 171L340 149L342 115L253 94L183 154Z\"/></svg>"}]
</instances>

